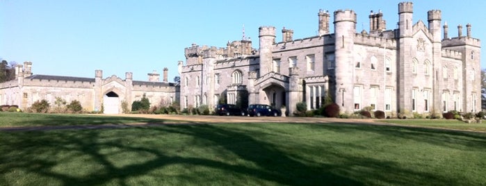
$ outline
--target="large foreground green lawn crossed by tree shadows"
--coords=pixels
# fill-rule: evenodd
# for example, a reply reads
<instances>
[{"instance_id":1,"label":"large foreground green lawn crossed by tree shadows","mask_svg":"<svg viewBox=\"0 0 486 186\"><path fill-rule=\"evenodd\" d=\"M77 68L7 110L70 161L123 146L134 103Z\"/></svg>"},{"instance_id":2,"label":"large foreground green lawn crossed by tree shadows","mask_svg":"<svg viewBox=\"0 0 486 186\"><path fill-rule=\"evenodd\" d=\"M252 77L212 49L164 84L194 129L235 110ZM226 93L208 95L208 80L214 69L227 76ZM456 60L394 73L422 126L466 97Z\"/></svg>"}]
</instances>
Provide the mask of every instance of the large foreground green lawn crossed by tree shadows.
<instances>
[{"instance_id":1,"label":"large foreground green lawn crossed by tree shadows","mask_svg":"<svg viewBox=\"0 0 486 186\"><path fill-rule=\"evenodd\" d=\"M88 122L90 123L90 122ZM0 132L0 185L483 185L486 134L355 124Z\"/></svg>"}]
</instances>

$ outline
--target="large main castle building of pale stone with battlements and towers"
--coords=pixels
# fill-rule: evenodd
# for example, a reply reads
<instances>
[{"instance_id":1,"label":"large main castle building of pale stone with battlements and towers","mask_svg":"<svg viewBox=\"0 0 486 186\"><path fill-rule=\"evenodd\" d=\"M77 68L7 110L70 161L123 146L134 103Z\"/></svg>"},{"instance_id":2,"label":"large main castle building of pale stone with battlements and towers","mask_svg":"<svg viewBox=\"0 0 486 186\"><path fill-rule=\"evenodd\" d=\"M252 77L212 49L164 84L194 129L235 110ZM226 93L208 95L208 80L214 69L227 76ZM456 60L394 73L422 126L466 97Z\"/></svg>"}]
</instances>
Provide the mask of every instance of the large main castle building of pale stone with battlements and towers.
<instances>
[{"instance_id":1,"label":"large main castle building of pale stone with battlements and towers","mask_svg":"<svg viewBox=\"0 0 486 186\"><path fill-rule=\"evenodd\" d=\"M209 105L225 96L236 103L248 91L249 103L285 105L293 113L298 102L308 109L331 96L343 112L370 106L387 115L480 110L480 40L471 25L449 37L440 10L430 10L428 24L414 23L413 3L398 4L398 28L386 29L382 12L368 16L369 31L357 31L353 10L318 12L318 35L293 39L293 30L259 28L259 48L252 42L228 42L225 48L185 49L179 61L181 108Z\"/></svg>"}]
</instances>

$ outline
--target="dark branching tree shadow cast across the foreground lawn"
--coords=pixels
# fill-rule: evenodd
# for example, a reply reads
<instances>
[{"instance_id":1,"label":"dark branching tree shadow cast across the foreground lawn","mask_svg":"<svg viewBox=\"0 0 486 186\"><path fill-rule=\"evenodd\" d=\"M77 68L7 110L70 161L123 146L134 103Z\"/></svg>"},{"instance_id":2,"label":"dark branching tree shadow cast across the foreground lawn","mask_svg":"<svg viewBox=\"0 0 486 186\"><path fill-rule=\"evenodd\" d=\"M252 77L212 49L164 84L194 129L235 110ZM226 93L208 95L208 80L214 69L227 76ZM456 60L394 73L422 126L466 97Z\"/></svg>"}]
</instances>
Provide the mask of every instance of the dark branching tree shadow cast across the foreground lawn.
<instances>
[{"instance_id":1,"label":"dark branching tree shadow cast across the foreground lawn","mask_svg":"<svg viewBox=\"0 0 486 186\"><path fill-rule=\"evenodd\" d=\"M355 133L356 130L362 130L369 133L380 133L381 135L390 135L400 137L404 132L403 128L398 127L359 127L352 125L307 125L318 130L336 131L339 133ZM252 128L262 130L271 130L264 124L252 125ZM186 174L154 174L159 169L172 165L186 165L188 167L209 167L224 172L227 175L242 178L248 176L252 179L259 180L250 182L250 185L370 185L378 183L384 185L414 185L417 180L426 178L427 180L444 180L443 177L436 174L427 174L420 171L403 169L395 162L375 160L372 157L360 157L357 155L337 153L333 151L332 146L347 146L350 149L357 149L358 146L353 144L336 144L333 142L322 142L318 146L302 144L301 149L295 152L297 154L283 151L281 146L260 140L269 133L259 133L242 128L225 128L215 125L186 125L186 126L161 126L161 127L140 127L128 129L115 129L106 134L107 130L76 130L74 132L60 131L35 131L25 133L2 133L0 137L0 150L4 152L14 151L20 157L10 157L1 154L1 164L8 164L8 169L20 169L22 171L36 174L45 179L52 179L60 185L133 185L131 178L138 176L159 177L154 179L168 180L176 179L179 183L205 185L208 180L222 185L235 184L246 185L243 180L211 180L206 174L197 174L188 172ZM412 135L423 135L416 137L417 141L426 141L434 144L447 145L447 142L439 140L442 132L437 130L426 130L419 128L407 128L406 133ZM125 135L124 137L114 137L113 135ZM137 136L141 135L141 136ZM245 162L251 162L254 166L238 164L236 161L229 162L216 160L205 157L204 155L174 155L163 150L163 146L143 145L156 142L141 142L138 145L127 144L127 141L156 140L158 137L165 135L185 136L193 138L193 143L197 146L207 146L208 150L214 150L217 146L220 153L232 153L238 159ZM410 137L406 134L401 137ZM464 135L464 137L473 137L478 140L484 140L484 136L466 135L462 133L453 133L453 135ZM426 137L427 136L427 137ZM148 137L148 138L147 138ZM430 140L427 140L431 138ZM163 138L165 139L165 138ZM476 142L471 142L476 143ZM169 144L167 144L169 145ZM464 140L467 145L467 140ZM482 145L482 144L478 144ZM187 151L184 146L180 147L181 152ZM188 148L191 148L188 146ZM106 154L106 149L118 149L113 153L138 153L140 157L146 160L120 166L113 162L111 156ZM321 153L322 160L303 158L298 155L309 150ZM484 149L484 147L483 147ZM56 159L59 151L67 151L72 156ZM293 152L293 151L291 151ZM304 152L305 154L305 152ZM102 165L97 167L99 170L88 170L83 176L73 176L67 173L54 171L54 167L65 162L70 158L79 156L88 156L95 164ZM224 156L224 155L222 155ZM49 158L50 157L50 158ZM20 159L19 159L20 158ZM319 158L319 157L317 157ZM10 162L14 160L14 162ZM123 159L122 159L123 160ZM1 167L1 166L0 166ZM70 167L76 169L76 167ZM188 168L191 169L191 168ZM0 173L6 173L6 167L1 167ZM393 176L389 176L393 175ZM3 176L2 176L3 177ZM214 177L217 179L225 177ZM6 180L6 178L2 178ZM198 183L197 181L206 181ZM241 181L241 182L240 182ZM443 183L443 182L439 182ZM448 180L451 185L456 185L454 181Z\"/></svg>"}]
</instances>

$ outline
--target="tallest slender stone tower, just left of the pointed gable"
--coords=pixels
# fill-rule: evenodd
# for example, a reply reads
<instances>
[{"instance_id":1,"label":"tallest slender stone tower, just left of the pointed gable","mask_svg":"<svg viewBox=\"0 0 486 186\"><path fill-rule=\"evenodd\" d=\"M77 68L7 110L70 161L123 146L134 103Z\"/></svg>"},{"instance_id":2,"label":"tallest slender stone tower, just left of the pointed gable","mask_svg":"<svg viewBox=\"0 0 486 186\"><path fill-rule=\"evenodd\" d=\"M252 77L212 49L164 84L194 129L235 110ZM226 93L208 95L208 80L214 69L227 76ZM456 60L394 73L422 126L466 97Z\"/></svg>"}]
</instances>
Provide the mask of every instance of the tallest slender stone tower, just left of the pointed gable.
<instances>
[{"instance_id":1,"label":"tallest slender stone tower, just left of the pointed gable","mask_svg":"<svg viewBox=\"0 0 486 186\"><path fill-rule=\"evenodd\" d=\"M397 73L397 105L392 105L391 110L405 109L412 110L412 17L413 17L413 3L403 2L398 3L398 62L396 69L391 69L391 73ZM384 59L385 60L385 59ZM389 74L385 75L390 78ZM386 87L385 87L386 88ZM379 108L379 107L378 107ZM402 110L398 110L400 112Z\"/></svg>"}]
</instances>

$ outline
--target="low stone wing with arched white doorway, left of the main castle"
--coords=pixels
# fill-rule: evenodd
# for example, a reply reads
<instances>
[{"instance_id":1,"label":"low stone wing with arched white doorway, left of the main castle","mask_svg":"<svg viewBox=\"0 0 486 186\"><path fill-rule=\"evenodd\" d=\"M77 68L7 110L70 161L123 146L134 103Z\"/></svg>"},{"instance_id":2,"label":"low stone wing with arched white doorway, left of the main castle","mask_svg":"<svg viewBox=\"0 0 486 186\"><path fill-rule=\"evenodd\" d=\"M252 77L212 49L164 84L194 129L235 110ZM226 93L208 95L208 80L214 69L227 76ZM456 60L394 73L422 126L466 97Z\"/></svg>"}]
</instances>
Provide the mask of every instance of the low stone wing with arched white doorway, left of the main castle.
<instances>
[{"instance_id":1,"label":"low stone wing with arched white doorway, left of the main castle","mask_svg":"<svg viewBox=\"0 0 486 186\"><path fill-rule=\"evenodd\" d=\"M15 80L0 83L0 105L31 107L35 101L47 100L54 105L56 97L67 103L77 100L88 111L104 111L106 114L122 113L122 102L131 109L133 101L145 94L151 105L169 105L179 100L179 87L168 82L168 69L163 69L163 81L156 71L149 73L149 81L133 81L131 72L125 78L109 76L96 70L95 78L71 76L33 75L32 62L15 67Z\"/></svg>"}]
</instances>

